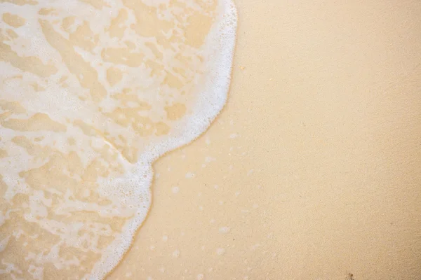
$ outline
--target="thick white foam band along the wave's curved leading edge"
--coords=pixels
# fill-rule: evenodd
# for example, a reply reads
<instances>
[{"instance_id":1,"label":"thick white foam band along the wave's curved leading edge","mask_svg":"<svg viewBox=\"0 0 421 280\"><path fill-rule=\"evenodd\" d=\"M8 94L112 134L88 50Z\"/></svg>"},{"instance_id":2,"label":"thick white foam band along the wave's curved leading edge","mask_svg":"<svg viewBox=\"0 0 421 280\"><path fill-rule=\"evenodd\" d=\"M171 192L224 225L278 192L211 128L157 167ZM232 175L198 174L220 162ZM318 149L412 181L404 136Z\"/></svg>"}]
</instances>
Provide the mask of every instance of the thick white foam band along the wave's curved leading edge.
<instances>
[{"instance_id":1,"label":"thick white foam band along the wave's curved leading edge","mask_svg":"<svg viewBox=\"0 0 421 280\"><path fill-rule=\"evenodd\" d=\"M179 134L172 139L163 141L155 146L149 146L145 153L140 155L140 160L135 167L138 188L148 190L147 193L138 193L145 197L151 197L151 184L153 179L152 163L159 157L194 141L215 120L227 102L229 84L231 83L232 62L236 40L237 13L232 0L220 0L218 4L218 19L210 30L206 43L205 52L211 54L211 59L206 65L208 74L203 81L203 92L199 94L188 120L180 123L176 129ZM133 181L133 179L131 179ZM142 203L142 209L149 209L151 200ZM140 210L142 210L140 209ZM139 211L132 221L123 228L123 232L109 245L100 262L95 264L91 275L84 279L102 279L116 267L123 255L130 248L135 232L140 228L147 216L147 211ZM116 258L118 256L118 258Z\"/></svg>"}]
</instances>

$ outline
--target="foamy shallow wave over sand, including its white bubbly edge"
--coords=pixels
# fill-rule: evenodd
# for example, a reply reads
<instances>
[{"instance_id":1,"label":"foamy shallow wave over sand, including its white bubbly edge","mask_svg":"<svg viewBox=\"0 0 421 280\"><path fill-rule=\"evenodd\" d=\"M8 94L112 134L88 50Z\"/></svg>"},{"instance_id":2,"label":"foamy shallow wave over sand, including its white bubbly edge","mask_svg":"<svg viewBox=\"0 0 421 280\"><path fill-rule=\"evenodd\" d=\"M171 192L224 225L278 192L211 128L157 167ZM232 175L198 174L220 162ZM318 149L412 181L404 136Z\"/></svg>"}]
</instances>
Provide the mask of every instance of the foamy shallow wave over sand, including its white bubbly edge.
<instances>
[{"instance_id":1,"label":"foamy shallow wave over sand, including its white bubbly edge","mask_svg":"<svg viewBox=\"0 0 421 280\"><path fill-rule=\"evenodd\" d=\"M0 274L101 279L227 97L231 1L1 1Z\"/></svg>"}]
</instances>

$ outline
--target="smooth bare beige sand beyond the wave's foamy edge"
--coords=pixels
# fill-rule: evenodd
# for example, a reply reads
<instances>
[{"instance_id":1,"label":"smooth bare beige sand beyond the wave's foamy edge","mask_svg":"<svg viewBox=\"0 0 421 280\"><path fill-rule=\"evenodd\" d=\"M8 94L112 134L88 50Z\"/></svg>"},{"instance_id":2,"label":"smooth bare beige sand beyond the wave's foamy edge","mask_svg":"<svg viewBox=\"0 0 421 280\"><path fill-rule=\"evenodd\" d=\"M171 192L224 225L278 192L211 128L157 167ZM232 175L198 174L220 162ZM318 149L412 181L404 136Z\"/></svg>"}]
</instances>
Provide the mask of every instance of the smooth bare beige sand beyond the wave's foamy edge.
<instances>
[{"instance_id":1,"label":"smooth bare beige sand beyond the wave's foamy edge","mask_svg":"<svg viewBox=\"0 0 421 280\"><path fill-rule=\"evenodd\" d=\"M229 102L108 279L420 279L421 2L236 4Z\"/></svg>"}]
</instances>

